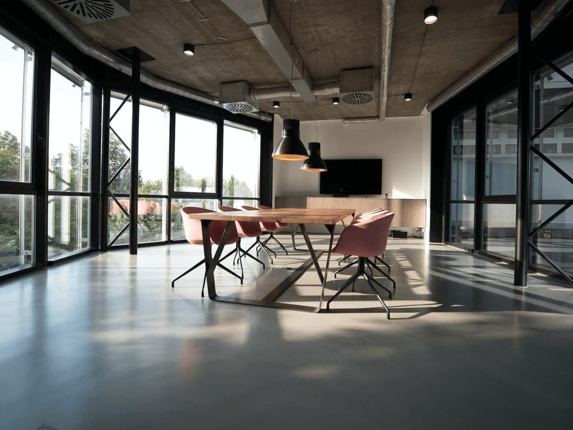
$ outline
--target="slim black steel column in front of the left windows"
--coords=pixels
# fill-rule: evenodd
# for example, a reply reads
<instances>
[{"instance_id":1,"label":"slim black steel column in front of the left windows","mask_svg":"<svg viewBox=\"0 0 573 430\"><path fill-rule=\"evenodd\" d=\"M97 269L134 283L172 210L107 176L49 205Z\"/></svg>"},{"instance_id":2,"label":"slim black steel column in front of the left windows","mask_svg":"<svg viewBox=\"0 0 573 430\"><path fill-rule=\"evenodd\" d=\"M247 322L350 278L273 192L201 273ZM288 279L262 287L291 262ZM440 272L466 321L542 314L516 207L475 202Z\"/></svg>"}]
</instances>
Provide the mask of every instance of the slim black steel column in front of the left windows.
<instances>
[{"instance_id":1,"label":"slim black steel column in front of the left windows","mask_svg":"<svg viewBox=\"0 0 573 430\"><path fill-rule=\"evenodd\" d=\"M133 48L131 56L131 183L129 184L129 253L138 253L138 189L139 189L139 95L141 52Z\"/></svg>"}]
</instances>

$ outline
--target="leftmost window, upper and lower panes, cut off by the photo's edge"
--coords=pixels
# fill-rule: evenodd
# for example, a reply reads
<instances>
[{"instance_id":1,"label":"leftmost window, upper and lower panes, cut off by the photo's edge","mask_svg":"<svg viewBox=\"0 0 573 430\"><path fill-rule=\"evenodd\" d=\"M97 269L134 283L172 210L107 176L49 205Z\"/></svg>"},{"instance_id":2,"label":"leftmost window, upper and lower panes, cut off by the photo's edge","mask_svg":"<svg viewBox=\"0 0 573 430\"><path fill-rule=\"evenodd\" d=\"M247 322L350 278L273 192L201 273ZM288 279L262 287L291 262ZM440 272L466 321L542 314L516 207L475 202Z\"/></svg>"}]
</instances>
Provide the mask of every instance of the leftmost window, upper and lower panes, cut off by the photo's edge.
<instances>
[{"instance_id":1,"label":"leftmost window, upper and lower panes, cut off by the photo's edge","mask_svg":"<svg viewBox=\"0 0 573 430\"><path fill-rule=\"evenodd\" d=\"M35 262L34 50L0 28L0 274Z\"/></svg>"}]
</instances>

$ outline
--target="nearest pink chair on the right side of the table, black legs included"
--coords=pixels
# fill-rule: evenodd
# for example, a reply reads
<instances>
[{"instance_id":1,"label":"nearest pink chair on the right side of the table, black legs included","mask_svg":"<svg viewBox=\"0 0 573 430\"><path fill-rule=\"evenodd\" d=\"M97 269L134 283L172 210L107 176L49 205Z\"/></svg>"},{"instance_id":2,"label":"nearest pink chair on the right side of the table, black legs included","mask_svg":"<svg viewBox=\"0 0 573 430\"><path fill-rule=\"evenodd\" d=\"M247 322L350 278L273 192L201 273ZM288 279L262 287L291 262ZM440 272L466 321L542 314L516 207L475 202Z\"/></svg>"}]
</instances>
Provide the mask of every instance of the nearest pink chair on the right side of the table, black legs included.
<instances>
[{"instance_id":1,"label":"nearest pink chair on the right side of the table, black legs included","mask_svg":"<svg viewBox=\"0 0 573 430\"><path fill-rule=\"evenodd\" d=\"M376 290L374 284L386 290L390 299L392 298L392 292L378 282L374 276L369 275L364 268L368 266L370 269L376 269L394 283L394 280L391 279L389 275L382 272L370 260L371 257L380 255L386 250L388 231L390 230L390 224L393 218L394 213L392 212L375 213L360 217L356 221L352 221L347 228L342 230L338 242L332 249L332 252L358 256L358 271L347 279L344 284L340 286L339 291L337 291L336 294L328 300L326 305L327 310L329 309L332 300L336 299L344 290L346 290L346 288L348 288L348 286L350 286L350 284L354 284L359 276L362 276L366 279L368 286L370 286L380 303L382 303L384 309L386 309L386 316L390 319L390 310L388 310L386 303L384 303L384 300L380 297L380 294L378 294L378 290ZM396 284L394 283L394 288L395 287Z\"/></svg>"}]
</instances>

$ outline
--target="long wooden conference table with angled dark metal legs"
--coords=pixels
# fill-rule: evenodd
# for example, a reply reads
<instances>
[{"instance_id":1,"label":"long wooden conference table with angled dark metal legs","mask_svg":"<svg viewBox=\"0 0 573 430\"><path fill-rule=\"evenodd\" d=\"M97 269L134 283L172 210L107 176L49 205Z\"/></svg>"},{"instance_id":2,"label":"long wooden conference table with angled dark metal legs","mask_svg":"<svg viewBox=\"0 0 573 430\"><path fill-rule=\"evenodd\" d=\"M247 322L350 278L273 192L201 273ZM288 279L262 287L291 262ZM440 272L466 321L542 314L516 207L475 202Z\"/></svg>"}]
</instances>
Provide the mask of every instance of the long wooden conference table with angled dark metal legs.
<instances>
[{"instance_id":1,"label":"long wooden conference table with angled dark metal legs","mask_svg":"<svg viewBox=\"0 0 573 430\"><path fill-rule=\"evenodd\" d=\"M207 291L209 292L209 298L217 302L227 302L227 303L241 303L250 304L253 306L265 306L274 307L281 309L299 310L307 312L319 312L322 306L324 297L324 287L327 282L328 265L330 264L330 256L332 252L332 241L334 238L334 230L337 222L342 221L348 216L354 216L354 209L265 209L265 210L237 210L236 212L205 212L205 213L193 213L186 214L191 219L201 220L201 226L203 231L203 252L205 252L205 267L207 276ZM221 241L217 246L215 255L211 252L211 240L209 237L209 226L211 221L227 221L225 231L221 237ZM221 258L221 253L223 252L224 244L229 238L229 234L233 229L233 223L235 221L254 221L254 222L286 222L288 224L296 224L300 226L301 232L303 233L304 240L307 243L308 251L311 255L310 259L305 261L300 267L295 269L291 275L289 275L284 281L282 281L278 286L274 287L273 290L268 292L264 298L261 300L254 299L242 299L239 297L232 296L219 296L217 295L217 287L215 286L215 277L213 272L217 263ZM322 252L315 253L312 248L311 240L308 237L306 224L323 224L328 232L330 233L330 240L328 244L328 256L326 260L326 267L324 272L321 270L318 258L322 255ZM322 283L322 288L320 292L320 300L317 307L303 306L291 303L280 303L275 302L275 300L288 288L290 287L303 273L311 266L315 265L316 272L318 273L320 282Z\"/></svg>"}]
</instances>

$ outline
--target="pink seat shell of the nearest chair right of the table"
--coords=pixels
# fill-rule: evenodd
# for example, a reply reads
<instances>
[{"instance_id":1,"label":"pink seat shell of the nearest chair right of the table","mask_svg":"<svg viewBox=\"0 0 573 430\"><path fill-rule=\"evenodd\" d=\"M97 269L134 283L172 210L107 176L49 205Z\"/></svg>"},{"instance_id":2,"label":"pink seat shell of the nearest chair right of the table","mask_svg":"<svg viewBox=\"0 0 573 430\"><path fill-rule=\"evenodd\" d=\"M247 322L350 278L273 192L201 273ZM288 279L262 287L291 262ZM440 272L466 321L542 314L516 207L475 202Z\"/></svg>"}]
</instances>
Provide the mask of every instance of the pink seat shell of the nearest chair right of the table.
<instances>
[{"instance_id":1,"label":"pink seat shell of the nearest chair right of the table","mask_svg":"<svg viewBox=\"0 0 573 430\"><path fill-rule=\"evenodd\" d=\"M386 251L393 212L376 213L352 222L342 230L332 252L374 257Z\"/></svg>"}]
</instances>

